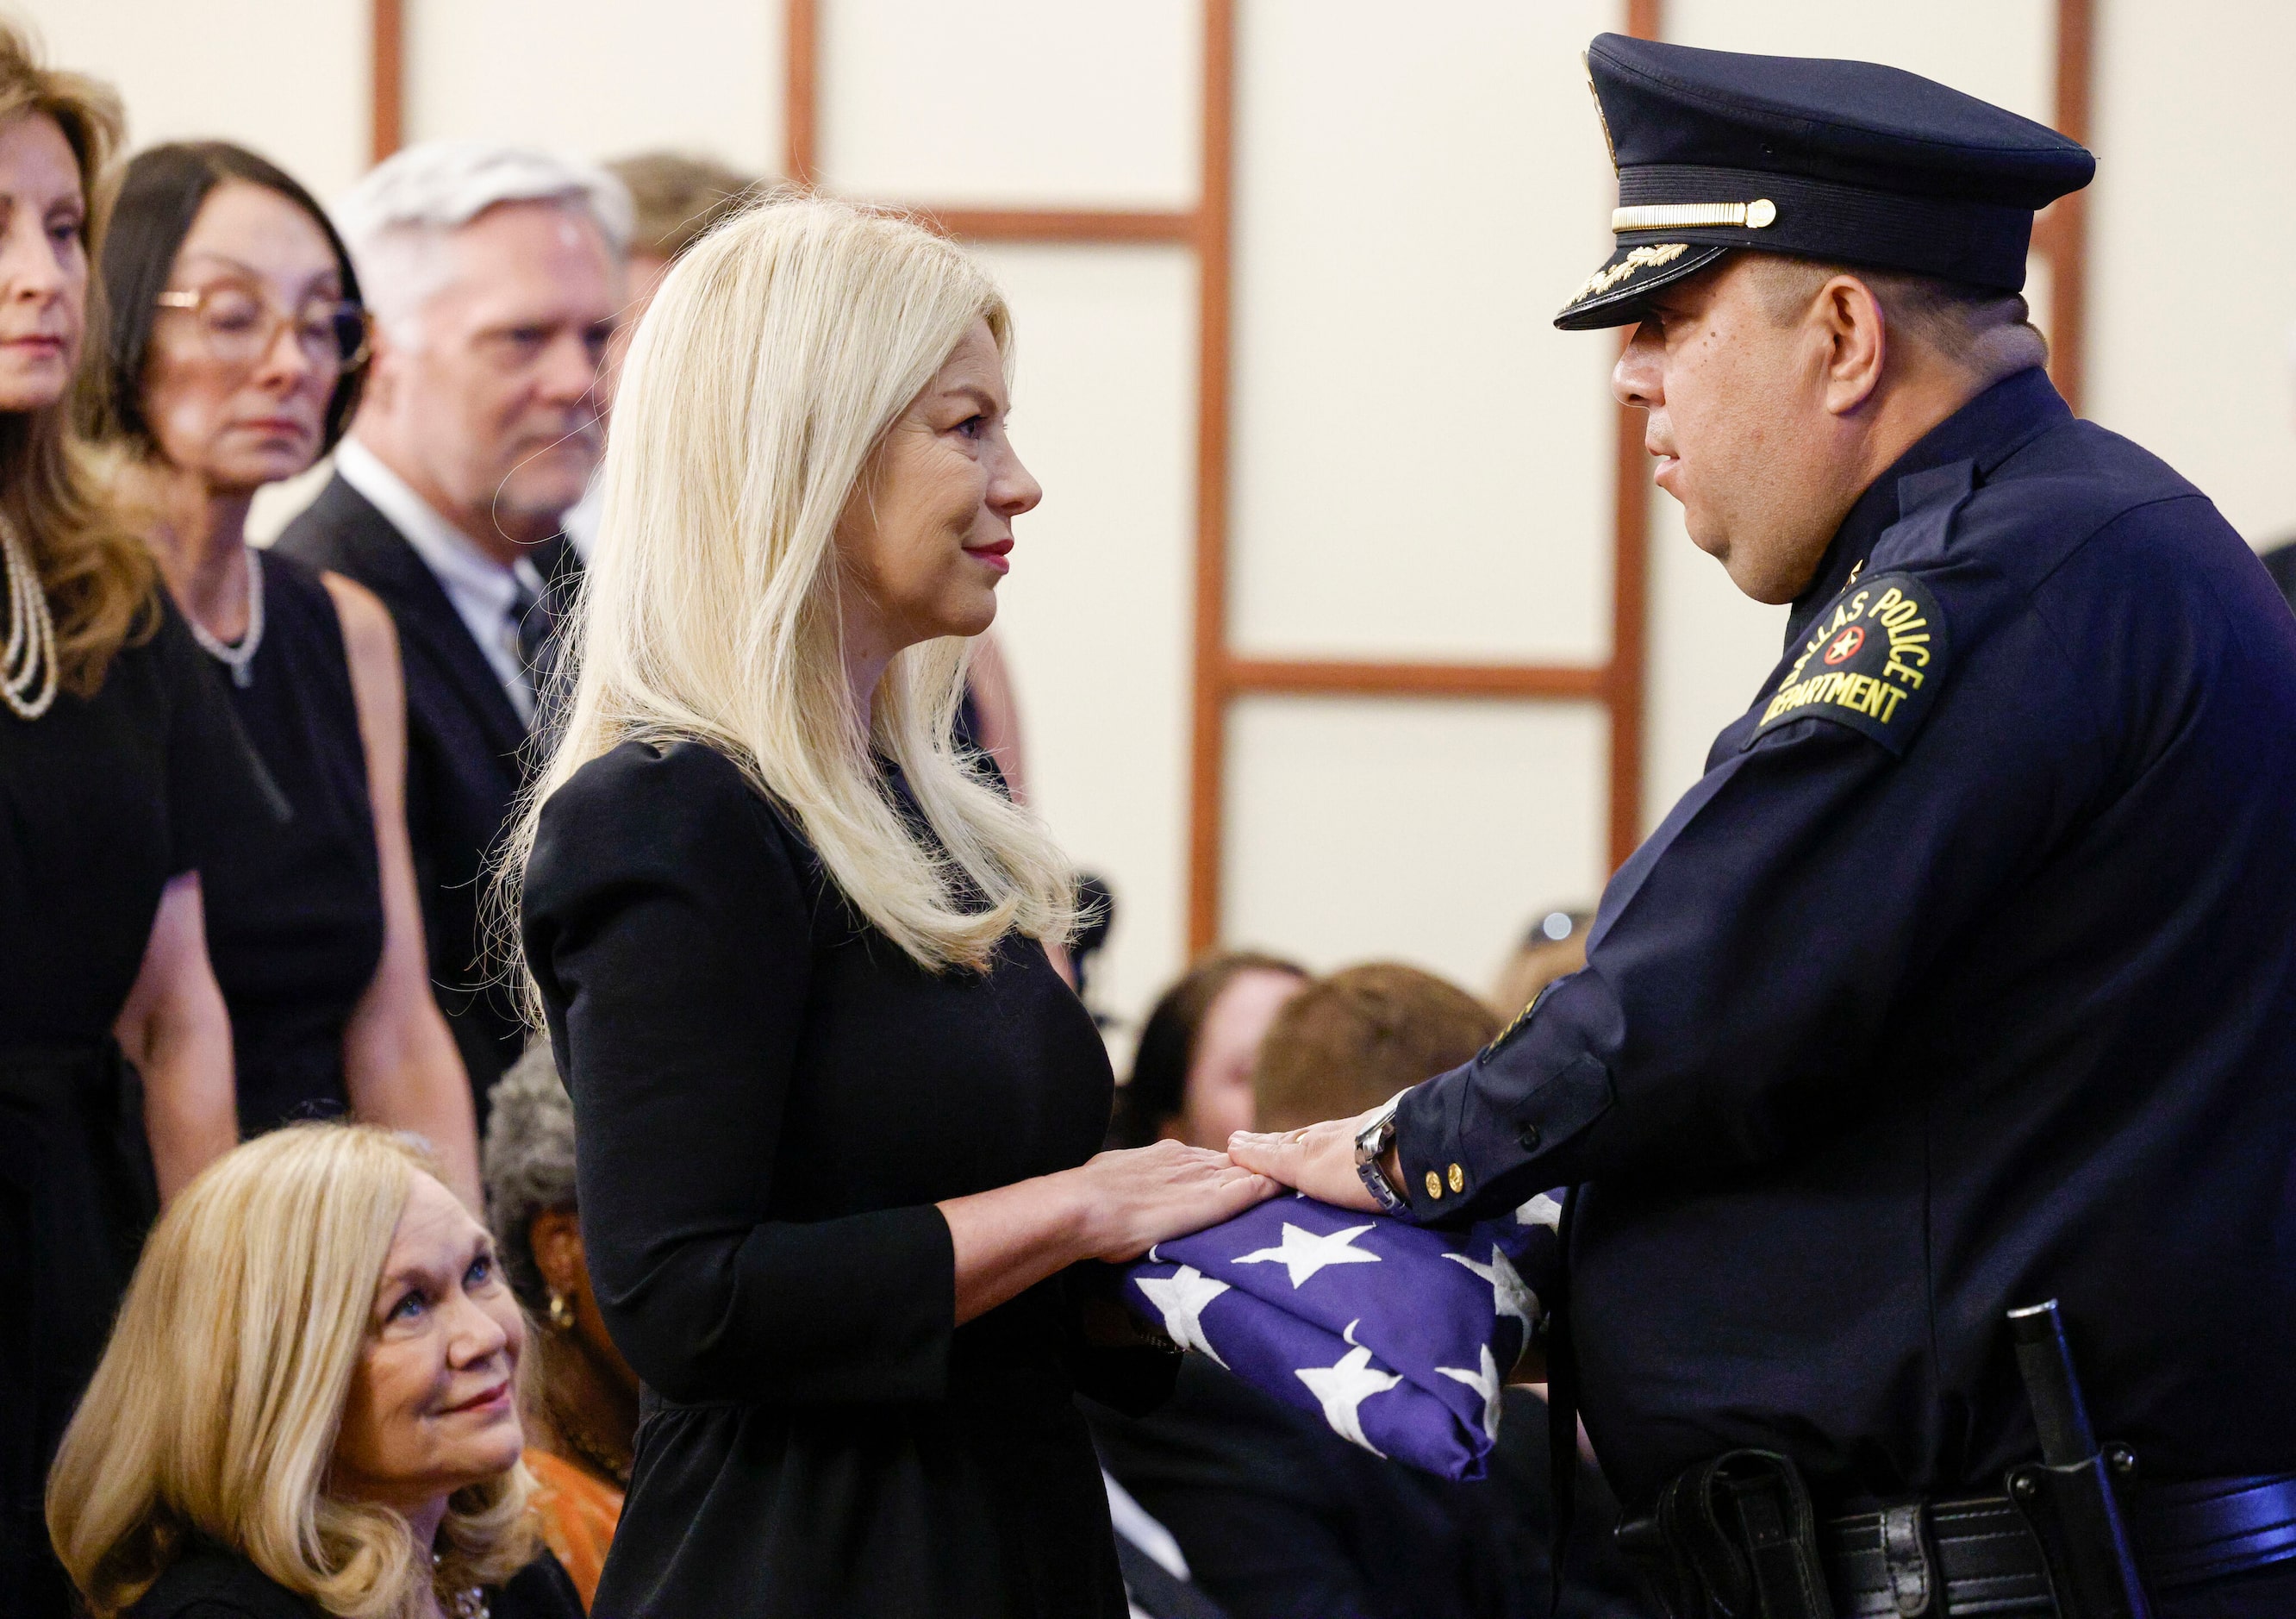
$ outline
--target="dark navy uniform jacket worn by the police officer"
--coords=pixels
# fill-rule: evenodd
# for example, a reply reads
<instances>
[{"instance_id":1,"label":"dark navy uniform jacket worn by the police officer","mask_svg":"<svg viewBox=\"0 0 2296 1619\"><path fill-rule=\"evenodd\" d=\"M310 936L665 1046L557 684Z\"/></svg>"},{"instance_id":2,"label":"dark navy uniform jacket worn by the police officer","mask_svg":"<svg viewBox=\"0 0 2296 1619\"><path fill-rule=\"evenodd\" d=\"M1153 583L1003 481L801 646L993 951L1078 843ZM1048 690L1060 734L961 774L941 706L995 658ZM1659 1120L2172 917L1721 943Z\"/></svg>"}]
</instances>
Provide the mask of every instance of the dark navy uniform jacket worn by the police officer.
<instances>
[{"instance_id":1,"label":"dark navy uniform jacket worn by the police officer","mask_svg":"<svg viewBox=\"0 0 2296 1619\"><path fill-rule=\"evenodd\" d=\"M1621 1500L1731 1447L1825 1500L2034 1454L2062 1297L2147 1477L2296 1467L2296 620L2041 372L1857 501L1587 969L1407 1095L1419 1219L1577 1185ZM1440 1192L1440 1196L1437 1196Z\"/></svg>"}]
</instances>

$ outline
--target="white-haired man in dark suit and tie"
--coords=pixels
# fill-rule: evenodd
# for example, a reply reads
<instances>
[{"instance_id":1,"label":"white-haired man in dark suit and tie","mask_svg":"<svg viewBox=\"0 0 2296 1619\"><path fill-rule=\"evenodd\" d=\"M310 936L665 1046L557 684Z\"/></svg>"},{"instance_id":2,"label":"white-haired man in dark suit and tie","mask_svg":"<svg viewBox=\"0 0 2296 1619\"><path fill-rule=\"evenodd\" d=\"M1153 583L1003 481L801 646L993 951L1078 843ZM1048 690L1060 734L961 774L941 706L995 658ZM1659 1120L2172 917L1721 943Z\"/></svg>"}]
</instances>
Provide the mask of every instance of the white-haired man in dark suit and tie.
<instances>
[{"instance_id":1,"label":"white-haired man in dark suit and tie","mask_svg":"<svg viewBox=\"0 0 2296 1619\"><path fill-rule=\"evenodd\" d=\"M602 448L629 197L475 142L411 147L338 209L374 363L335 478L280 549L374 590L406 661L406 827L432 983L480 1125L523 1029L489 983L489 854L533 769L542 659L581 572L560 519Z\"/></svg>"}]
</instances>

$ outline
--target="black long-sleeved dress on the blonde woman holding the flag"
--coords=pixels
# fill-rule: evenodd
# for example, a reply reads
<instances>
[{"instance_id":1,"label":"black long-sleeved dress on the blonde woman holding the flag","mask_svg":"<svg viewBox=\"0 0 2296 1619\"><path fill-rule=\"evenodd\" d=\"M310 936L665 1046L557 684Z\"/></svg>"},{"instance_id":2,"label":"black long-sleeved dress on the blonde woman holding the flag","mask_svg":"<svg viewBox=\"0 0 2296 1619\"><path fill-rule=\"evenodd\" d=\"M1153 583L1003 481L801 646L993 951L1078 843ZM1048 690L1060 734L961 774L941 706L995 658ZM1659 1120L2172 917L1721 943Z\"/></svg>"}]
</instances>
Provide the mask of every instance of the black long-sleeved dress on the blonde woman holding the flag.
<instances>
[{"instance_id":1,"label":"black long-sleeved dress on the blonde woman holding the flag","mask_svg":"<svg viewBox=\"0 0 2296 1619\"><path fill-rule=\"evenodd\" d=\"M523 925L645 1380L595 1619L1120 1617L1070 1396L1171 1366L1077 1348L1058 1277L953 1325L934 1208L1100 1146L1107 1054L1045 953L923 971L698 744L551 795Z\"/></svg>"}]
</instances>

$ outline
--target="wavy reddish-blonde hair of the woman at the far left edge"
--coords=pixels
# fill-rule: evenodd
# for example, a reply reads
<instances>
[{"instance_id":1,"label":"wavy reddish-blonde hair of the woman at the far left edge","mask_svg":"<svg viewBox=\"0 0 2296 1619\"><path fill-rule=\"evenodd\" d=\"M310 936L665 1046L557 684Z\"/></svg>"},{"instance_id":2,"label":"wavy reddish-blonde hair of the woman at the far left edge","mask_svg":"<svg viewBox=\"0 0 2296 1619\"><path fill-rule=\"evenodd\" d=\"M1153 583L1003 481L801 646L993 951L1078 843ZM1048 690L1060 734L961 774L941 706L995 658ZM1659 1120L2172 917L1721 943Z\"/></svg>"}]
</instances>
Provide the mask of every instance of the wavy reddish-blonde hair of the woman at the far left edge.
<instances>
[{"instance_id":1,"label":"wavy reddish-blonde hair of the woman at the far left edge","mask_svg":"<svg viewBox=\"0 0 2296 1619\"><path fill-rule=\"evenodd\" d=\"M103 372L101 220L96 188L126 133L119 96L80 73L41 67L32 41L0 21L0 124L53 117L80 165L87 216L87 338L80 386ZM135 533L101 496L87 450L71 436L73 402L0 411L0 512L23 537L55 615L55 661L67 691L90 698L129 641L158 627L158 570Z\"/></svg>"}]
</instances>

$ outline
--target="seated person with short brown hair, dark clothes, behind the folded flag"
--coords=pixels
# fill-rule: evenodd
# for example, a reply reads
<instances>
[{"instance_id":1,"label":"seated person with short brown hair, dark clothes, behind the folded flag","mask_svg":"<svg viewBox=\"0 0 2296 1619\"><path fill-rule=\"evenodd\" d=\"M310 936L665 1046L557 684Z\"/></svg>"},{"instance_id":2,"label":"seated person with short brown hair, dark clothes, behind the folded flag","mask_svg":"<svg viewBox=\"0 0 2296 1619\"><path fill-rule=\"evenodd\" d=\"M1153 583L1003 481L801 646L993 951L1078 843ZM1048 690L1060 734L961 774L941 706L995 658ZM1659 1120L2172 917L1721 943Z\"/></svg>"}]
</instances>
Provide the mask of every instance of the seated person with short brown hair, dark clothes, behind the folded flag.
<instances>
[{"instance_id":1,"label":"seated person with short brown hair, dark clothes, behind the folded flag","mask_svg":"<svg viewBox=\"0 0 2296 1619\"><path fill-rule=\"evenodd\" d=\"M1251 1068L1261 1130L1355 1114L1456 1068L1499 1031L1417 967L1373 962L1295 987ZM1205 1355L1146 1417L1088 1408L1102 1463L1178 1541L1235 1619L1518 1619L1545 1603L1548 1419L1508 1389L1490 1477L1453 1484L1350 1444ZM1609 1552L1600 1479L1580 1467L1564 1614L1639 1614Z\"/></svg>"}]
</instances>

